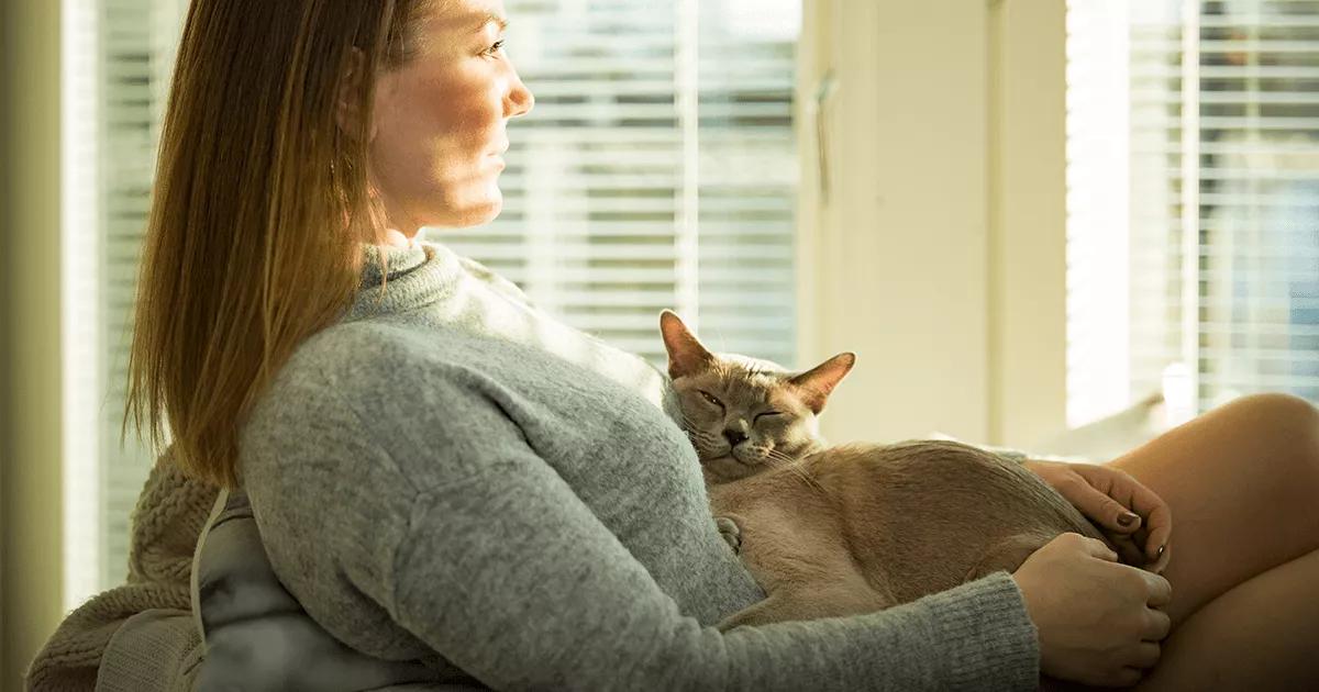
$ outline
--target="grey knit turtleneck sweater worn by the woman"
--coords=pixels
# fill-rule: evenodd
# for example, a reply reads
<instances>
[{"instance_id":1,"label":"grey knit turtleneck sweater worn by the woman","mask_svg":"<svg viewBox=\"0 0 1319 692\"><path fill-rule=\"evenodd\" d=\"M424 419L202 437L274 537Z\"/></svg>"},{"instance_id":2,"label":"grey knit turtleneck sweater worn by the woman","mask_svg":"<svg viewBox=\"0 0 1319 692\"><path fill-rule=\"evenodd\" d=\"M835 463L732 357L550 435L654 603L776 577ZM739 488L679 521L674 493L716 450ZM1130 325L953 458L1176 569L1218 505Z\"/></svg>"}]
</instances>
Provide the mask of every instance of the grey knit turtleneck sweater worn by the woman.
<instances>
[{"instance_id":1,"label":"grey knit turtleneck sweater worn by the woman","mask_svg":"<svg viewBox=\"0 0 1319 692\"><path fill-rule=\"evenodd\" d=\"M352 308L255 407L241 473L276 573L311 617L437 679L1035 687L1035 630L1006 573L881 613L715 629L764 593L715 529L667 391L470 260L367 246Z\"/></svg>"}]
</instances>

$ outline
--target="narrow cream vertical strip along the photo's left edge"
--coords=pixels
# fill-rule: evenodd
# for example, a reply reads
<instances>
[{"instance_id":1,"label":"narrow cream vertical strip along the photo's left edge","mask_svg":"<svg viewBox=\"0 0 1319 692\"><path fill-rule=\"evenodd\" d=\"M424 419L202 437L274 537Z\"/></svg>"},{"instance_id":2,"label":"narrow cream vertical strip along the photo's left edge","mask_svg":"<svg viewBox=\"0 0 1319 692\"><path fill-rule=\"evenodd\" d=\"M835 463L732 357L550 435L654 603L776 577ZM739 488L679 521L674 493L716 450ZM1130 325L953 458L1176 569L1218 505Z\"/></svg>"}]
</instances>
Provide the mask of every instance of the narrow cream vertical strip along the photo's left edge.
<instances>
[{"instance_id":1,"label":"narrow cream vertical strip along the photo's left edge","mask_svg":"<svg viewBox=\"0 0 1319 692\"><path fill-rule=\"evenodd\" d=\"M59 3L0 3L0 689L59 602Z\"/></svg>"}]
</instances>

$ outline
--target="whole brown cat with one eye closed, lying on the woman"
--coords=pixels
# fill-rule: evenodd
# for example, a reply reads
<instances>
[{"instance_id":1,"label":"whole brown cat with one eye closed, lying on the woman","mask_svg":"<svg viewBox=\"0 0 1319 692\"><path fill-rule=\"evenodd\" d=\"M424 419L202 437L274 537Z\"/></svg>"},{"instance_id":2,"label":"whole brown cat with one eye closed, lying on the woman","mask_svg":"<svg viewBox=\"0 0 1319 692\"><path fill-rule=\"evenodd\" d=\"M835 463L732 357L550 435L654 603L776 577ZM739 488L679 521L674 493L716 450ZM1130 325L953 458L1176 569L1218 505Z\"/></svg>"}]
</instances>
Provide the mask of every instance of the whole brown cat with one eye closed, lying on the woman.
<instances>
[{"instance_id":1,"label":"whole brown cat with one eye closed, lying on the woman","mask_svg":"<svg viewBox=\"0 0 1319 692\"><path fill-rule=\"evenodd\" d=\"M720 630L881 610L995 571L1062 533L1105 536L1038 476L955 442L828 447L818 418L856 356L791 373L707 351L660 318L711 511L766 597Z\"/></svg>"}]
</instances>

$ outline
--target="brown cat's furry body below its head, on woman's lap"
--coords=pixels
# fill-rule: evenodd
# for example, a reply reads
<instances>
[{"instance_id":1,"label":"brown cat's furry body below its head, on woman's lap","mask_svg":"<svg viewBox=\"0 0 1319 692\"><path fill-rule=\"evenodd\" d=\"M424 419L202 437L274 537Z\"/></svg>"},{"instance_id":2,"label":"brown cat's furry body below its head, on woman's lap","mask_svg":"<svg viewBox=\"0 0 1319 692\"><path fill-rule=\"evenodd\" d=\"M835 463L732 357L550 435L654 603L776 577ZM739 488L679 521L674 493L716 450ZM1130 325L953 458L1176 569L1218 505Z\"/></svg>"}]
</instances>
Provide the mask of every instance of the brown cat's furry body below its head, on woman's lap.
<instances>
[{"instance_id":1,"label":"brown cat's furry body below its head, on woman's lap","mask_svg":"<svg viewBox=\"0 0 1319 692\"><path fill-rule=\"evenodd\" d=\"M1014 571L1064 531L1103 539L1035 475L951 442L832 447L707 488L768 596L721 629L880 610Z\"/></svg>"}]
</instances>

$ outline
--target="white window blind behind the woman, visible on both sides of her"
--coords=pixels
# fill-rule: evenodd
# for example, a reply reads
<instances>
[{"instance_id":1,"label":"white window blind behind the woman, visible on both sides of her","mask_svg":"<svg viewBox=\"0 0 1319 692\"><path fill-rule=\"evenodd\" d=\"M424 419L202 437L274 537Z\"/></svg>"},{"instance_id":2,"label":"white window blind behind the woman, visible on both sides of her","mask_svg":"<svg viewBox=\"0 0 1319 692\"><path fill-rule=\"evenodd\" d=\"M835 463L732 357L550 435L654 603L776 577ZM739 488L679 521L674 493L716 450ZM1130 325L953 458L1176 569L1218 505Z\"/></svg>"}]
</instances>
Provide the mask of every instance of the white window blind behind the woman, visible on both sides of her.
<instances>
[{"instance_id":1,"label":"white window blind behind the woman, visible on both sides of her","mask_svg":"<svg viewBox=\"0 0 1319 692\"><path fill-rule=\"evenodd\" d=\"M128 519L152 459L120 448L119 417L142 228L168 76L185 0L65 0L80 72L66 123L90 124L66 207L66 268L90 277L66 314L94 324L70 359L83 397L70 420L99 440L66 460L70 606L123 580ZM657 364L661 308L679 310L720 351L794 365L795 0L509 0L508 50L537 95L510 125L491 224L429 229L510 278L567 323ZM70 75L71 82L74 75ZM80 253L80 254L79 254ZM80 264L79 264L80 262ZM94 529L91 529L94 526ZM86 565L86 567L79 567ZM92 567L94 565L94 567Z\"/></svg>"}]
</instances>

